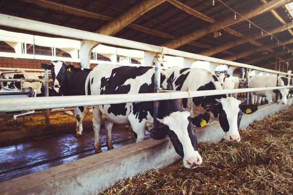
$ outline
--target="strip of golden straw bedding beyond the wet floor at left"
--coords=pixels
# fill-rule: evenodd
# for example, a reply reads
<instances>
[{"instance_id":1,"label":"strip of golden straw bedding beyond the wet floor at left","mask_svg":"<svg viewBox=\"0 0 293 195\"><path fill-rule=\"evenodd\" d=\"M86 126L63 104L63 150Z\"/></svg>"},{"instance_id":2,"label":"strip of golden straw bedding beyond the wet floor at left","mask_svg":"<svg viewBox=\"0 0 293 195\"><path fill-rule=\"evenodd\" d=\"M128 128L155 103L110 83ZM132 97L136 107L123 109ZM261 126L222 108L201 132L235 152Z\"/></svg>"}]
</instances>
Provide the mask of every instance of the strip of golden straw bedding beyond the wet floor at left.
<instances>
[{"instance_id":1,"label":"strip of golden straw bedding beyond the wet floor at left","mask_svg":"<svg viewBox=\"0 0 293 195\"><path fill-rule=\"evenodd\" d=\"M91 120L92 115L87 115L84 120ZM6 122L0 122L0 132L21 131L23 129L31 129L36 127L46 127L45 117L40 115L30 115L25 117L24 125L21 125L21 117L17 118L18 125L13 129L13 119ZM52 114L50 115L50 125L58 125L63 123L76 123L76 118L69 115Z\"/></svg>"}]
</instances>

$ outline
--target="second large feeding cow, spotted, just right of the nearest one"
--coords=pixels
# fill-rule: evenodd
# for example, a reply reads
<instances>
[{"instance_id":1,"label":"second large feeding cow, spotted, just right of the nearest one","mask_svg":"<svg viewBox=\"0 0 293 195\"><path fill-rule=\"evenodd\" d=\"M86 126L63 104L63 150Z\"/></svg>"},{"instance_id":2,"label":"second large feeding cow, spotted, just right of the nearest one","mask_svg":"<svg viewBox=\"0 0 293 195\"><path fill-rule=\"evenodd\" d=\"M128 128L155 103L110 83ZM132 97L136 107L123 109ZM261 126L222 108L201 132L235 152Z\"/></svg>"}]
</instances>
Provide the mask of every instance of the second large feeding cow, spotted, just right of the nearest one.
<instances>
[{"instance_id":1,"label":"second large feeding cow, spotted, just right of the nearest one","mask_svg":"<svg viewBox=\"0 0 293 195\"><path fill-rule=\"evenodd\" d=\"M218 78L214 73L201 68L180 68L173 66L165 70L172 80L173 88L176 91L202 91L202 90L223 90ZM239 125L242 118L241 102L244 99L227 97L226 95L215 95L198 98L182 99L183 109L188 109L188 102L194 104L199 112L211 111L215 118L218 118L226 139L231 142L239 142ZM200 107L201 105L201 107ZM198 111L195 111L198 112Z\"/></svg>"}]
</instances>

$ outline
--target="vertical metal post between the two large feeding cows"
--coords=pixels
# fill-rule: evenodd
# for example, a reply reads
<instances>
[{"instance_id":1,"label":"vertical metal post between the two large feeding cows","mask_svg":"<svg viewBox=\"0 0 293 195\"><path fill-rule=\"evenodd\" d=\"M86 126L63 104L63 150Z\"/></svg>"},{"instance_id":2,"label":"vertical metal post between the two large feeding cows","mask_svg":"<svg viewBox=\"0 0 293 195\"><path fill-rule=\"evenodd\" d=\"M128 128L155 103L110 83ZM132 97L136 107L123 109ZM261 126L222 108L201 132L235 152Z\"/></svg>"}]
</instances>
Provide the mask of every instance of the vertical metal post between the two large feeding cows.
<instances>
[{"instance_id":1,"label":"vertical metal post between the two large feeding cows","mask_svg":"<svg viewBox=\"0 0 293 195\"><path fill-rule=\"evenodd\" d=\"M154 93L158 93L161 87L161 62L158 61L159 54L155 57L155 86ZM159 127L159 122L157 121L158 113L159 113L159 105L160 101L154 101L154 128Z\"/></svg>"}]
</instances>

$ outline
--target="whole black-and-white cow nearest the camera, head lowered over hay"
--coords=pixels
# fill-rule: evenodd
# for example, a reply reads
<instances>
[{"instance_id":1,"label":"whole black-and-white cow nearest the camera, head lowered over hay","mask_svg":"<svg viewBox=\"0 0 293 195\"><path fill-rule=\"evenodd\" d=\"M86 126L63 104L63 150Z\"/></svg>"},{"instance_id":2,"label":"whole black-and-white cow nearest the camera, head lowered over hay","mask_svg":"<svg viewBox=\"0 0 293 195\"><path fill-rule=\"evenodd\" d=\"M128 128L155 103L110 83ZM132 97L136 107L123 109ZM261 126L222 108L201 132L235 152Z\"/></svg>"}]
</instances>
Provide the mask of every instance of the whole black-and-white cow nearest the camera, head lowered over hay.
<instances>
[{"instance_id":1,"label":"whole black-and-white cow nearest the camera, head lowered over hay","mask_svg":"<svg viewBox=\"0 0 293 195\"><path fill-rule=\"evenodd\" d=\"M153 93L154 68L100 64L88 75L85 86L87 84L90 85L92 95ZM164 71L161 71L161 86L172 90L171 82ZM111 140L113 123L131 125L137 141L145 139L145 130L153 129L152 101L98 105L92 106L92 111L96 153L102 152L99 139L102 113L105 115L108 149L113 148ZM189 111L182 111L176 99L160 101L157 120L165 125L160 129L167 132L176 152L183 158L186 168L194 168L202 163L197 149L195 127L191 123Z\"/></svg>"}]
</instances>

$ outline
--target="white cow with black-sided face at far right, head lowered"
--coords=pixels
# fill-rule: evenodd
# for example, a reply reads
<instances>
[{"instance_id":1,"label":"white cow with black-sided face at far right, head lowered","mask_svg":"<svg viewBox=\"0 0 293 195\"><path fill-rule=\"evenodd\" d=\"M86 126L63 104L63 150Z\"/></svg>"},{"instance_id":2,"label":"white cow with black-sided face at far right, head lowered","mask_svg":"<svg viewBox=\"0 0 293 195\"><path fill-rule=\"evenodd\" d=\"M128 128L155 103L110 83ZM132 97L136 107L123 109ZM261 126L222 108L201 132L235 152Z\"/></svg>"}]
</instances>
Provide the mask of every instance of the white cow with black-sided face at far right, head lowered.
<instances>
[{"instance_id":1,"label":"white cow with black-sided face at far right, head lowered","mask_svg":"<svg viewBox=\"0 0 293 195\"><path fill-rule=\"evenodd\" d=\"M250 78L250 85L251 87L275 87L277 82L276 76L254 76ZM285 86L283 80L278 77L279 86ZM287 98L289 96L288 89L280 89L277 90L280 93L281 104L287 103ZM262 97L267 98L268 102L272 102L272 97L275 96L276 90L268 90L268 91L256 91L251 92L251 103L260 105ZM256 99L258 98L258 102Z\"/></svg>"}]
</instances>

